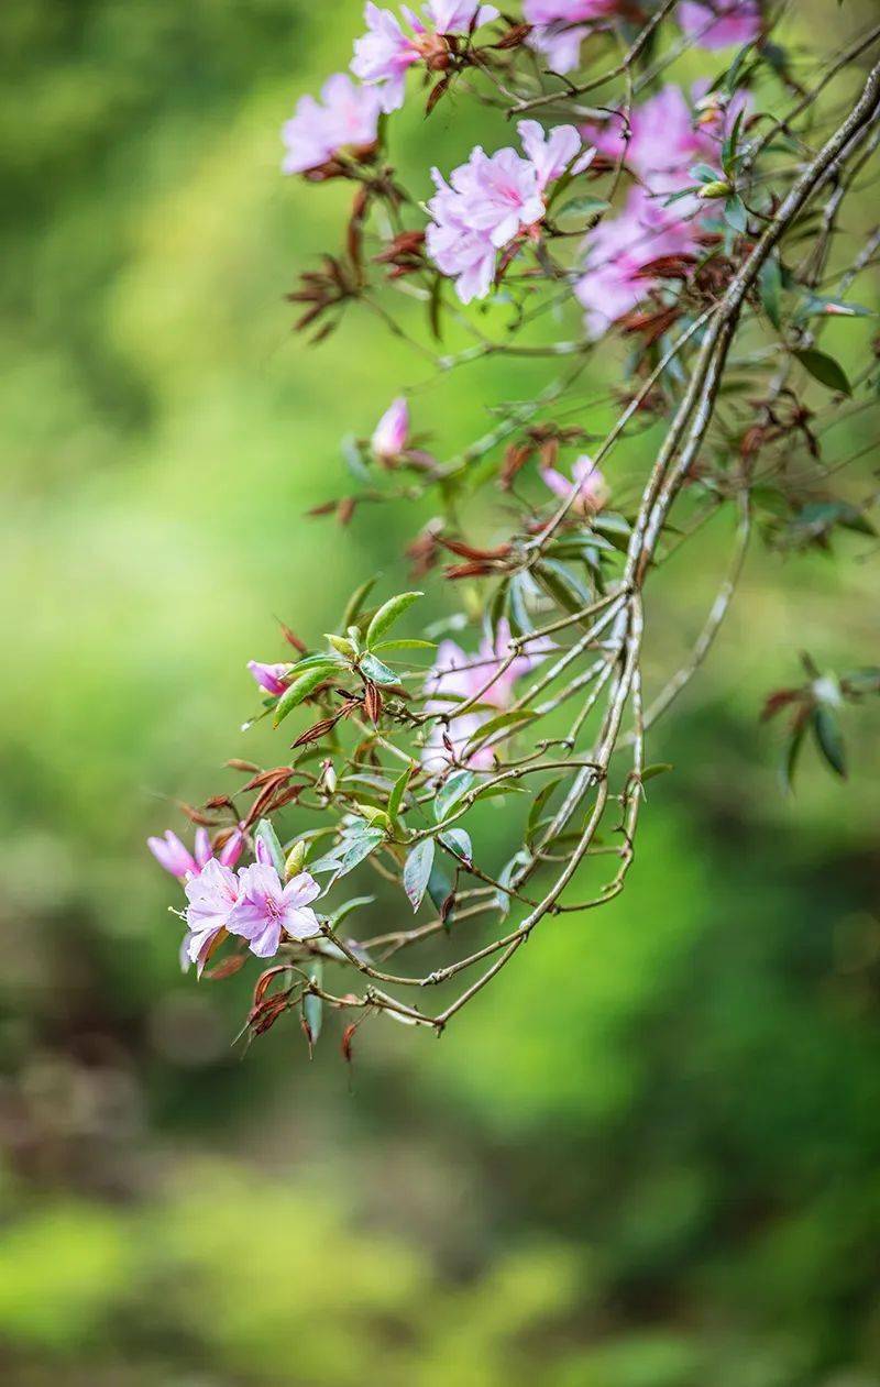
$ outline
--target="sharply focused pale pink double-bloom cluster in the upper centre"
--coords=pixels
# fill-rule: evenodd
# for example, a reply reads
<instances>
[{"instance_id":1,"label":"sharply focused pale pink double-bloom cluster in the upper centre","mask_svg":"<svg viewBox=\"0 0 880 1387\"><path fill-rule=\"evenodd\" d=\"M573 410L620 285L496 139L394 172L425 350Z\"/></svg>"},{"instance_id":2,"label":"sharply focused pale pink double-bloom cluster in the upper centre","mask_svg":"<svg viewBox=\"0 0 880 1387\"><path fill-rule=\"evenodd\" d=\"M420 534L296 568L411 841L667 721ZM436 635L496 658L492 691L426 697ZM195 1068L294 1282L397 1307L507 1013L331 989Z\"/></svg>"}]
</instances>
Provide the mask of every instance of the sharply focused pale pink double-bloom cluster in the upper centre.
<instances>
[{"instance_id":1,"label":"sharply focused pale pink double-bloom cluster in the upper centre","mask_svg":"<svg viewBox=\"0 0 880 1387\"><path fill-rule=\"evenodd\" d=\"M527 158L509 147L489 155L477 144L448 183L432 169L437 191L428 204L432 222L425 244L437 268L455 279L462 304L489 294L497 250L521 233L536 234L548 183L568 166L572 172L586 168L593 155L573 125L548 136L536 121L522 121L518 129Z\"/></svg>"}]
</instances>

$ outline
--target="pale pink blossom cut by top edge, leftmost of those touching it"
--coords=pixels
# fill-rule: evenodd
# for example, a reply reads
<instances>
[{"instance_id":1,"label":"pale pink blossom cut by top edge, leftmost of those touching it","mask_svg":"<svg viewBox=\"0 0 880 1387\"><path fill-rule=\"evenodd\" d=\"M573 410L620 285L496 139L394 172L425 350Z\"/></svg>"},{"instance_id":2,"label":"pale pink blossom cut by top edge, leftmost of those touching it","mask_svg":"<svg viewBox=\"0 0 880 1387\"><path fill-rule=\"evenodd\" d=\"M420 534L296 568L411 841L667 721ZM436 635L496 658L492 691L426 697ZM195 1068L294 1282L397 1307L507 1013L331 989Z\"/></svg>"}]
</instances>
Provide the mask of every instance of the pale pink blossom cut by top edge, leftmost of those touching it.
<instances>
[{"instance_id":1,"label":"pale pink blossom cut by top edge, leftmost of those touching it","mask_svg":"<svg viewBox=\"0 0 880 1387\"><path fill-rule=\"evenodd\" d=\"M447 65L446 35L468 33L472 26L498 17L494 6L466 0L430 0L425 6L426 22L408 6L401 7L401 14L411 33L391 10L368 4L364 10L366 33L354 44L351 71L378 89L383 111L397 111L404 104L407 72L414 64L426 62L432 71Z\"/></svg>"}]
</instances>

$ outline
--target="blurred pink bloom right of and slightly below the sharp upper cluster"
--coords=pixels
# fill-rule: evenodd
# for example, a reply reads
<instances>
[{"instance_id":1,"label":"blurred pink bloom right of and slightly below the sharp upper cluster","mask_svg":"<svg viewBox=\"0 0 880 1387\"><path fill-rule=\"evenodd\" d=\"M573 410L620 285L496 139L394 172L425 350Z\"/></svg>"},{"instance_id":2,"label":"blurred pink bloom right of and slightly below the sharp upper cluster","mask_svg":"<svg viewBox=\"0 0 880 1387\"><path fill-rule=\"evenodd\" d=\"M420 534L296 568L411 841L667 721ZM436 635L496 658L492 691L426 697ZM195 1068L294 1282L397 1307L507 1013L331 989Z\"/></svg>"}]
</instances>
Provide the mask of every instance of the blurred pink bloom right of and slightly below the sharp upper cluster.
<instances>
[{"instance_id":1,"label":"blurred pink bloom right of and slightly below the sharp upper cluster","mask_svg":"<svg viewBox=\"0 0 880 1387\"><path fill-rule=\"evenodd\" d=\"M623 212L590 234L587 270L575 284L590 336L598 337L641 302L651 287L641 273L650 261L693 250L694 230L676 216L677 207L663 208L643 189L633 189Z\"/></svg>"}]
</instances>

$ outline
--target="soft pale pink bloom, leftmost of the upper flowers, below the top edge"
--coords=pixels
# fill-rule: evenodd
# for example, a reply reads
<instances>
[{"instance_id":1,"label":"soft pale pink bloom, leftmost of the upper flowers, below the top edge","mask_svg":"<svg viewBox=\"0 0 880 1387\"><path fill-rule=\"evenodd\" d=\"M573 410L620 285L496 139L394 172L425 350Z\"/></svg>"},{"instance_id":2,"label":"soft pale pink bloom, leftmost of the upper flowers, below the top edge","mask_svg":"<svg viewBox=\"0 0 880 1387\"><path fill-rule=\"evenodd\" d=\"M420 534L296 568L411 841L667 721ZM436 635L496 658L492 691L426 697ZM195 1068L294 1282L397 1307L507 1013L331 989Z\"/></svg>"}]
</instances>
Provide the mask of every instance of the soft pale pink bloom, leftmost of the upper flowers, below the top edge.
<instances>
[{"instance_id":1,"label":"soft pale pink bloom, leftmost of the upper flowers, below the top edge","mask_svg":"<svg viewBox=\"0 0 880 1387\"><path fill-rule=\"evenodd\" d=\"M372 87L355 86L346 72L328 78L321 89L323 105L304 96L293 119L282 126L287 153L285 173L304 173L321 168L341 150L375 144L379 130L380 101Z\"/></svg>"}]
</instances>

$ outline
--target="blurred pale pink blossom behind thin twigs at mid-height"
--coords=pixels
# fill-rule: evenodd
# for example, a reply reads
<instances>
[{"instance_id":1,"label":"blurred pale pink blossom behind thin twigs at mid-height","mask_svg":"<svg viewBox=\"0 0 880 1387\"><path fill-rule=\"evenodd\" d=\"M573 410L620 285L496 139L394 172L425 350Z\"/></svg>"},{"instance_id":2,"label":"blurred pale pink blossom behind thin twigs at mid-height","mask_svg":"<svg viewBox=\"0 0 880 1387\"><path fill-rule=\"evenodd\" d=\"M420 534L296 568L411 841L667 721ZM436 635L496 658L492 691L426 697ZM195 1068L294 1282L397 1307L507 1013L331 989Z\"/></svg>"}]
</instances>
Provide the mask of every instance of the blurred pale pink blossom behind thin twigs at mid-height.
<instances>
[{"instance_id":1,"label":"blurred pale pink blossom behind thin twigs at mid-height","mask_svg":"<svg viewBox=\"0 0 880 1387\"><path fill-rule=\"evenodd\" d=\"M551 642L533 642L527 655L516 655L502 669L508 653L511 628L500 621L494 644L483 637L476 655L466 655L455 641L441 641L437 646L434 667L425 681L428 713L448 713L450 724L446 735L455 755L461 757L466 742L496 714L486 707L468 710L455 716L458 703L477 699L489 709L502 712L514 698L516 680L529 674L552 649ZM443 739L443 724L434 724L422 752L422 766L426 770L444 770L450 764L450 752ZM472 770L490 770L494 763L491 746L482 746L468 757Z\"/></svg>"}]
</instances>

